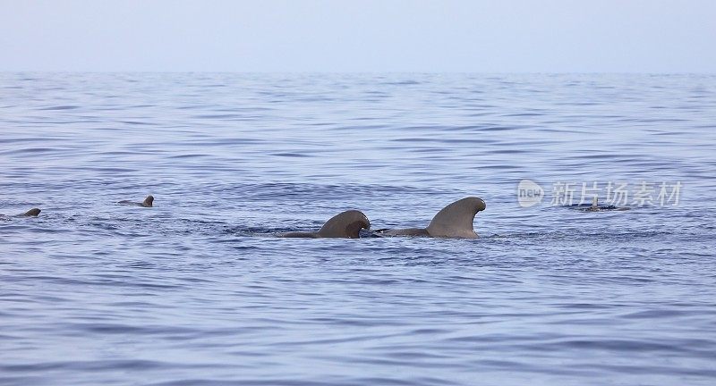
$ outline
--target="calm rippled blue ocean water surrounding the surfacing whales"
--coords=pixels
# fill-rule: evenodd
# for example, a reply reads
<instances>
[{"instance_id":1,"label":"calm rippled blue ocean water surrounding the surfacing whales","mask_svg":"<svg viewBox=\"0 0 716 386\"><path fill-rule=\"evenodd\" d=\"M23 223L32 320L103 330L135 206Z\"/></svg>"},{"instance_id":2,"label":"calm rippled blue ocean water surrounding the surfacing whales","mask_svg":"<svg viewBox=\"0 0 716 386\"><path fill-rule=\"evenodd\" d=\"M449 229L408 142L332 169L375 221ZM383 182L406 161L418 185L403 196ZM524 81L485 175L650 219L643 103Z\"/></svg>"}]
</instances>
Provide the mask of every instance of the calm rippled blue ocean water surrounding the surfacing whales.
<instances>
[{"instance_id":1,"label":"calm rippled blue ocean water surrounding the surfacing whales","mask_svg":"<svg viewBox=\"0 0 716 386\"><path fill-rule=\"evenodd\" d=\"M713 385L714 171L713 75L0 73L0 384Z\"/></svg>"}]
</instances>

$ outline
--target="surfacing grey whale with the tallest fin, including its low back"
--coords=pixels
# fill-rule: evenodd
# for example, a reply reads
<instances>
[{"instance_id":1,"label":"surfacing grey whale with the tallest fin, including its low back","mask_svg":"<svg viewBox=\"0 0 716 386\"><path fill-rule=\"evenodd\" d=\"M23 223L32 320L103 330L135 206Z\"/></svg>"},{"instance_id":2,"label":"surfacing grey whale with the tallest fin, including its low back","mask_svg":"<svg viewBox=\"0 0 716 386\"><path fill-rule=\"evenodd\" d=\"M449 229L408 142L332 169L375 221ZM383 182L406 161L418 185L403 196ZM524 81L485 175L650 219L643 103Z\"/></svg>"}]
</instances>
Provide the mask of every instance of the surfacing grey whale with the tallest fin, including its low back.
<instances>
[{"instance_id":1,"label":"surfacing grey whale with the tallest fin, including its low back","mask_svg":"<svg viewBox=\"0 0 716 386\"><path fill-rule=\"evenodd\" d=\"M473 229L475 214L485 210L485 202L479 197L465 197L442 208L427 228L381 230L386 236L422 236L452 239L476 239Z\"/></svg>"}]
</instances>

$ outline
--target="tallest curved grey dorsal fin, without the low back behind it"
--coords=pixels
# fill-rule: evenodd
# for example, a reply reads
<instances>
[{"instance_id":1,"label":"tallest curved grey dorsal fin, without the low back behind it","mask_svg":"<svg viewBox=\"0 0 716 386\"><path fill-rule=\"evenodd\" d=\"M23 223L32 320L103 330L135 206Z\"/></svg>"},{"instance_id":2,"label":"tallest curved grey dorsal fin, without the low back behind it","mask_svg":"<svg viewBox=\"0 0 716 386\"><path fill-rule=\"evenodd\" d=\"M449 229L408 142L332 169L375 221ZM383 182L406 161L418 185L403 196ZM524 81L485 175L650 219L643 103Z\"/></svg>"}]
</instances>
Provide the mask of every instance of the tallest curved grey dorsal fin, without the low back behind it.
<instances>
[{"instance_id":1,"label":"tallest curved grey dorsal fin, without the low back behind it","mask_svg":"<svg viewBox=\"0 0 716 386\"><path fill-rule=\"evenodd\" d=\"M485 202L478 197L465 197L445 206L432 218L427 231L432 237L457 237L474 239L475 214L485 210Z\"/></svg>"}]
</instances>

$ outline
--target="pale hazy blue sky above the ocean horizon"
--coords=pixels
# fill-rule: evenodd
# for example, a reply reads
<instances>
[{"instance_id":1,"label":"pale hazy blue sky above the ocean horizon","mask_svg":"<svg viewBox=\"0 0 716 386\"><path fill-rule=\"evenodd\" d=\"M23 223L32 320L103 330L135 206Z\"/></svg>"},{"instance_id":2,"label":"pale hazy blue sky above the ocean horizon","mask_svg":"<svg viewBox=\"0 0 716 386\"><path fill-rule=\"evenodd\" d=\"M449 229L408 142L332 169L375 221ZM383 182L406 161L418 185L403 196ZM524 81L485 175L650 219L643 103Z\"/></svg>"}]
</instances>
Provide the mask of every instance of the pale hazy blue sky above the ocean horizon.
<instances>
[{"instance_id":1,"label":"pale hazy blue sky above the ocean horizon","mask_svg":"<svg viewBox=\"0 0 716 386\"><path fill-rule=\"evenodd\" d=\"M0 0L0 71L716 72L716 1Z\"/></svg>"}]
</instances>

